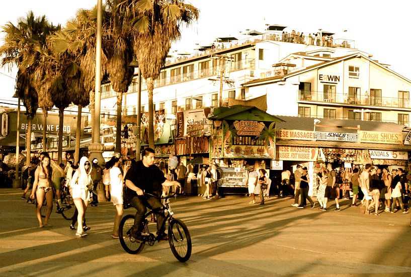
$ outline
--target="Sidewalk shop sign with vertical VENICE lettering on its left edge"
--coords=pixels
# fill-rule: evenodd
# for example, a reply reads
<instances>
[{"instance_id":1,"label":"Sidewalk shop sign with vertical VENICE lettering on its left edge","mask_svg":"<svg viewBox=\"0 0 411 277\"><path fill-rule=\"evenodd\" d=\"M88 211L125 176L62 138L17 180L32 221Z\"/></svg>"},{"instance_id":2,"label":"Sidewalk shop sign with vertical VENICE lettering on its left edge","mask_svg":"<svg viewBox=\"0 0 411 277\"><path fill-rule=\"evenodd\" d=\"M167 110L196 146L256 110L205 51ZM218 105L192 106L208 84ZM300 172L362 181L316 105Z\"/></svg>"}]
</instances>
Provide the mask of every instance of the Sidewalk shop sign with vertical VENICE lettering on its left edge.
<instances>
[{"instance_id":1,"label":"Sidewalk shop sign with vertical VENICE lettering on its left edge","mask_svg":"<svg viewBox=\"0 0 411 277\"><path fill-rule=\"evenodd\" d=\"M177 137L200 136L210 132L211 109L194 109L177 113Z\"/></svg>"}]
</instances>

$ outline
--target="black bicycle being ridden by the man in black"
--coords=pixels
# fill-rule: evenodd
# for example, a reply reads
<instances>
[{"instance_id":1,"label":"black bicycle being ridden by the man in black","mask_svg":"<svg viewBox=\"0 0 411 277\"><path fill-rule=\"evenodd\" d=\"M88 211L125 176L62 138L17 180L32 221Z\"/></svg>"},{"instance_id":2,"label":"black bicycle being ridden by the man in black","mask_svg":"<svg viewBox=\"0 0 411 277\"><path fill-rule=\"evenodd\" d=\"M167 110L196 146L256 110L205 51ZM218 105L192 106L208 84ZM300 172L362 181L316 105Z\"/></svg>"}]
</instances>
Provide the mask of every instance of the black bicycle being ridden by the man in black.
<instances>
[{"instance_id":1,"label":"black bicycle being ridden by the man in black","mask_svg":"<svg viewBox=\"0 0 411 277\"><path fill-rule=\"evenodd\" d=\"M191 256L191 247L192 247L191 237L190 237L188 228L184 224L184 222L182 220L173 218L174 213L171 210L169 198L174 197L175 194L176 193L158 197L150 193L144 193L144 195L152 196L157 199L165 199L164 203L162 204L161 209L165 211L165 214L167 212L167 215L165 215L165 220L163 224L166 224L166 222L168 222L169 224L168 230L169 230L170 248L174 256L179 261L185 262ZM144 216L144 219L142 222L144 229L143 229L143 232L141 233L143 237L143 242L130 240L130 231L131 231L131 227L134 224L134 215L126 215L121 219L120 227L119 227L119 239L120 239L121 246L127 253L138 254L143 250L146 244L148 244L149 246L152 246L154 245L155 241L159 242L157 237L153 234L157 231L156 224L155 223L149 224L149 218L151 217L151 214L153 213L156 213L156 211L151 210L147 212ZM153 232L150 231L150 229L153 230Z\"/></svg>"}]
</instances>

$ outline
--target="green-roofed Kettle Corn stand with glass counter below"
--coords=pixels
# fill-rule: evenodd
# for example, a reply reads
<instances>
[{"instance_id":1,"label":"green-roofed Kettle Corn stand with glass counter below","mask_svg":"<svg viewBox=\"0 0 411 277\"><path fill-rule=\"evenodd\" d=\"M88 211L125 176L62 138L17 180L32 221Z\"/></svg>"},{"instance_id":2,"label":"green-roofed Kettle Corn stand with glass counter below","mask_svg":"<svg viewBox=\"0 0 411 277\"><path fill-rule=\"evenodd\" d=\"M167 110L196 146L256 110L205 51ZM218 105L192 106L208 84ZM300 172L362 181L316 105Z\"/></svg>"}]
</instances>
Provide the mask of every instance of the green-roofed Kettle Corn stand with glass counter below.
<instances>
[{"instance_id":1,"label":"green-roofed Kettle Corn stand with glass counter below","mask_svg":"<svg viewBox=\"0 0 411 277\"><path fill-rule=\"evenodd\" d=\"M282 120L256 107L245 106L214 109L209 119L213 121L210 159L221 172L219 189L225 193L246 193L249 166L254 166L257 172L265 169L269 179L269 160L276 157L275 127ZM259 186L256 190L259 193Z\"/></svg>"}]
</instances>

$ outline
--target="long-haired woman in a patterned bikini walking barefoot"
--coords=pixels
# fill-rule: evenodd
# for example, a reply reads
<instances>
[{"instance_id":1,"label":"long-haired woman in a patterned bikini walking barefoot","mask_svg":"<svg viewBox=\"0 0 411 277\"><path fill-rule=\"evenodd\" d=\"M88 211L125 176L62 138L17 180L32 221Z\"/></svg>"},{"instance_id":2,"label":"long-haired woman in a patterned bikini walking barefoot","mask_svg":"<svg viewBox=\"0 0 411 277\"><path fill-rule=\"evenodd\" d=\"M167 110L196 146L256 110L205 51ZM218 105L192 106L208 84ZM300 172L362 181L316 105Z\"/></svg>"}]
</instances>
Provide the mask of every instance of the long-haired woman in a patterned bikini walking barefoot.
<instances>
[{"instance_id":1,"label":"long-haired woman in a patterned bikini walking barefoot","mask_svg":"<svg viewBox=\"0 0 411 277\"><path fill-rule=\"evenodd\" d=\"M36 215L37 220L39 221L39 227L43 228L44 226L51 226L48 222L50 218L51 211L53 210L53 191L51 191L51 175L52 169L50 166L50 156L46 153L43 154L41 158L40 165L36 168L34 172L34 183L33 189L30 194L30 198L34 199L34 192L37 196L37 209ZM43 206L44 198L47 200L47 213L44 220L44 224L41 220L41 207Z\"/></svg>"}]
</instances>

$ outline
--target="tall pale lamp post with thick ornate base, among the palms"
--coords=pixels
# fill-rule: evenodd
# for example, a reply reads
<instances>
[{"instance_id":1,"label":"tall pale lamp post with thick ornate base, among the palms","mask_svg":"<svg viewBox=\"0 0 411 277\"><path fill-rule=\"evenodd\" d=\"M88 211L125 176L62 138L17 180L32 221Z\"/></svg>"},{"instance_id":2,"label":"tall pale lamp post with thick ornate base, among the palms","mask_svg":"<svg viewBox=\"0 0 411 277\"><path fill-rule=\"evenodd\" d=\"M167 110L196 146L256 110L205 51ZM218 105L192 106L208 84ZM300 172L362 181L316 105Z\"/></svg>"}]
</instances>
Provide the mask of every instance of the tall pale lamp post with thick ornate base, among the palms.
<instances>
[{"instance_id":1,"label":"tall pale lamp post with thick ornate base, among the palms","mask_svg":"<svg viewBox=\"0 0 411 277\"><path fill-rule=\"evenodd\" d=\"M97 32L96 32L96 84L94 101L94 124L92 144L89 146L90 161L97 158L99 164L104 163L104 145L100 143L100 90L101 90L101 24L102 24L102 0L97 0ZM120 130L118 130L120 131ZM76 138L79 140L79 138Z\"/></svg>"}]
</instances>

